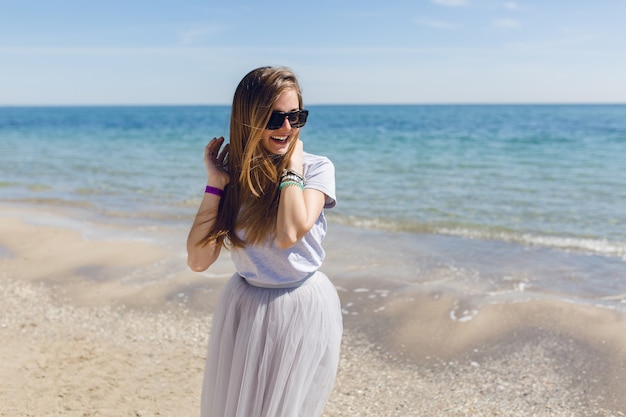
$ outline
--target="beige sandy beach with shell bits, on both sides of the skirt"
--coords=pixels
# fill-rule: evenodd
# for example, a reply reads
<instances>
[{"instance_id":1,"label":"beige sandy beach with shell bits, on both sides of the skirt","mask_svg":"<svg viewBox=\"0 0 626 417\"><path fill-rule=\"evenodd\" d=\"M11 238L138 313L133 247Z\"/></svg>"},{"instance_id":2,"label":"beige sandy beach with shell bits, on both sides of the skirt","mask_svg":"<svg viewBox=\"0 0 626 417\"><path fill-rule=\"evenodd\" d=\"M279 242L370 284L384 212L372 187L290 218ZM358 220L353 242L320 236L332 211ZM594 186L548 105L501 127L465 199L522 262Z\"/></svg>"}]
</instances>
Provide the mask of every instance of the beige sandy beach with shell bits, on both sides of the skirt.
<instances>
[{"instance_id":1,"label":"beige sandy beach with shell bits, on both sides of the skirt","mask_svg":"<svg viewBox=\"0 0 626 417\"><path fill-rule=\"evenodd\" d=\"M184 247L14 211L0 208L0 416L199 415L227 255L194 274ZM153 279L164 259L183 264ZM626 415L618 312L546 298L451 320L455 294L331 279L345 334L324 417Z\"/></svg>"}]
</instances>

